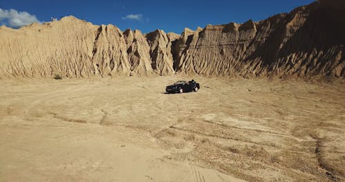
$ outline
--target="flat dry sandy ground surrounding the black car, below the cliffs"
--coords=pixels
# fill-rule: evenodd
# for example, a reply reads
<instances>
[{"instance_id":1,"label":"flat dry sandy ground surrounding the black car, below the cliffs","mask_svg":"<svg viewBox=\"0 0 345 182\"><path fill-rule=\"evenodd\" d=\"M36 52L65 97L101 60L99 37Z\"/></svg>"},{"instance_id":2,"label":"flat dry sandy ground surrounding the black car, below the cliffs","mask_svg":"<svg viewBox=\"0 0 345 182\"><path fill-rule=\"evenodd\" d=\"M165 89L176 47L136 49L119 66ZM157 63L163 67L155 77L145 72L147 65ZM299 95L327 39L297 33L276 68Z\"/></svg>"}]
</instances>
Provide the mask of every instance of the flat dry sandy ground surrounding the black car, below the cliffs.
<instances>
[{"instance_id":1,"label":"flat dry sandy ground surrounding the black car, below the cliffs","mask_svg":"<svg viewBox=\"0 0 345 182\"><path fill-rule=\"evenodd\" d=\"M345 84L0 80L0 181L344 181Z\"/></svg>"}]
</instances>

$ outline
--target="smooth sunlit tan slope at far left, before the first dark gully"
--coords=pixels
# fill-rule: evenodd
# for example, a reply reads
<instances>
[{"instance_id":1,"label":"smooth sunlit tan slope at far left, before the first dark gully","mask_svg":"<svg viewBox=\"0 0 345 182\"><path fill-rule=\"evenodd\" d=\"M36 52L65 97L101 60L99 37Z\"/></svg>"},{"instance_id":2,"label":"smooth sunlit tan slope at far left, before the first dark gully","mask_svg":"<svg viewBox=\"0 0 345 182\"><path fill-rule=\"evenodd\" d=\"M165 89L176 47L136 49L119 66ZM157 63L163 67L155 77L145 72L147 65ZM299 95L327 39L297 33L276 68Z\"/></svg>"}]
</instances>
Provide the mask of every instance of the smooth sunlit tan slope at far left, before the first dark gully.
<instances>
[{"instance_id":1,"label":"smooth sunlit tan slope at far left, before the first dark gully","mask_svg":"<svg viewBox=\"0 0 345 182\"><path fill-rule=\"evenodd\" d=\"M70 28L73 23L74 28ZM19 30L1 27L0 77L88 77L97 26L74 17L34 23Z\"/></svg>"}]
</instances>

